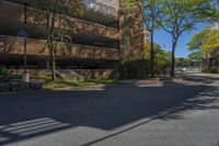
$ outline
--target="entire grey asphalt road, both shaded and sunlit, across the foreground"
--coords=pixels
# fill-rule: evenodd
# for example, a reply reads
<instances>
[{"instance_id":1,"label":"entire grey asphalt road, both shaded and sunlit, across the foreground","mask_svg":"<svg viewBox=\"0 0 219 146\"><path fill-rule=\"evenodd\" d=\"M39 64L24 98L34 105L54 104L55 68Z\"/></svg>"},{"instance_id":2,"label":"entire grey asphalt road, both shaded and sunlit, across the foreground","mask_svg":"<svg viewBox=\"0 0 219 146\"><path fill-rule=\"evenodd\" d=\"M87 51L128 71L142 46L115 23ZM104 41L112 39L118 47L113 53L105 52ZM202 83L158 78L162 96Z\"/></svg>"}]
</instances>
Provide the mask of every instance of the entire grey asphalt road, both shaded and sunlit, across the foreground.
<instances>
[{"instance_id":1,"label":"entire grey asphalt road, both shaded and sunlit, across the foreground","mask_svg":"<svg viewBox=\"0 0 219 146\"><path fill-rule=\"evenodd\" d=\"M0 145L219 146L219 80L0 94Z\"/></svg>"}]
</instances>

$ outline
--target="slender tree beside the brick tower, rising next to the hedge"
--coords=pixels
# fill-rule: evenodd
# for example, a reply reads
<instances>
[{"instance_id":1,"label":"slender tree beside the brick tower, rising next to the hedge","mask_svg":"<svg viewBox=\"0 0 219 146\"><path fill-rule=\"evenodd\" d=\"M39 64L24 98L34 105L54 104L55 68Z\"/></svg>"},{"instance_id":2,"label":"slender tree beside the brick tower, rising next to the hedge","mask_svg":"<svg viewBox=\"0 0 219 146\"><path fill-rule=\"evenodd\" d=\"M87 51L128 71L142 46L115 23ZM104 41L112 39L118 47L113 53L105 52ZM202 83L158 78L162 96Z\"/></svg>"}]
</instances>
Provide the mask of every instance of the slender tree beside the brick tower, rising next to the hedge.
<instances>
[{"instance_id":1,"label":"slender tree beside the brick tower, rising next to the hedge","mask_svg":"<svg viewBox=\"0 0 219 146\"><path fill-rule=\"evenodd\" d=\"M150 74L154 76L154 31L159 29L160 0L123 0L130 11L139 11L142 14L147 31L150 33Z\"/></svg>"}]
</instances>

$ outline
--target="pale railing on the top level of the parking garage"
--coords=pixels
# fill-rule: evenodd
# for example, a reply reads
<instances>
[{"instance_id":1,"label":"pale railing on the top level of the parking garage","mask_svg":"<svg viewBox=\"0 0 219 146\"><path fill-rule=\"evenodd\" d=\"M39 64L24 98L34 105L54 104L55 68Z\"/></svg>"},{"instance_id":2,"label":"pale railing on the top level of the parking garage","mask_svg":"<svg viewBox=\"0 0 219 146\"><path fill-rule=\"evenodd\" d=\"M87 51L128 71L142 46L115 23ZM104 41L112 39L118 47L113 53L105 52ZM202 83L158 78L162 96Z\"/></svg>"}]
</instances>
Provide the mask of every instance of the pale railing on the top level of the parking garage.
<instances>
[{"instance_id":1,"label":"pale railing on the top level of the parking garage","mask_svg":"<svg viewBox=\"0 0 219 146\"><path fill-rule=\"evenodd\" d=\"M84 5L88 9L118 18L118 11L115 8L106 5L102 2L96 2L96 0L84 0Z\"/></svg>"}]
</instances>

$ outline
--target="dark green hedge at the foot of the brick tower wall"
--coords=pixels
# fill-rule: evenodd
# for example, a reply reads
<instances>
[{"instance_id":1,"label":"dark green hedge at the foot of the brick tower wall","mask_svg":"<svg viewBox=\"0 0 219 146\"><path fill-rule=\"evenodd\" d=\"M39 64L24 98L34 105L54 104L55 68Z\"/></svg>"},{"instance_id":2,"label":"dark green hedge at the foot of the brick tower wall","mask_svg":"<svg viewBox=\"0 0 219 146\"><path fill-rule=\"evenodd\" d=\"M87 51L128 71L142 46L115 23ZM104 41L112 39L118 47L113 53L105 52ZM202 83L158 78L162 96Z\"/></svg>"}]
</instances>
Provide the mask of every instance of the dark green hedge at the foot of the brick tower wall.
<instances>
[{"instance_id":1,"label":"dark green hedge at the foot of the brick tower wall","mask_svg":"<svg viewBox=\"0 0 219 146\"><path fill-rule=\"evenodd\" d=\"M142 78L149 75L148 59L125 59L119 64L122 78Z\"/></svg>"}]
</instances>

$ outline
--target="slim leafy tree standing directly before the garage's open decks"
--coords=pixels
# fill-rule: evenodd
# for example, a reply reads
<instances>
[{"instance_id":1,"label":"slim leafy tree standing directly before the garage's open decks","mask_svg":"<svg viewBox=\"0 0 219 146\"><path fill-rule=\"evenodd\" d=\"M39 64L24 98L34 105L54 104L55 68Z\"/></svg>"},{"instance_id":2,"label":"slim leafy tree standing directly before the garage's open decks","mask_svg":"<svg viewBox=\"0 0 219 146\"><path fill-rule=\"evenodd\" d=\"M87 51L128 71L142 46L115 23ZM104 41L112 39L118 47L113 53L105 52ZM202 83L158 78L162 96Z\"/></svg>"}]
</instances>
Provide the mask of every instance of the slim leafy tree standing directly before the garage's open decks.
<instances>
[{"instance_id":1,"label":"slim leafy tree standing directly before the garage's open decks","mask_svg":"<svg viewBox=\"0 0 219 146\"><path fill-rule=\"evenodd\" d=\"M56 80L56 55L58 49L66 49L71 44L71 33L77 29L70 16L82 13L82 3L81 0L33 0L31 4L41 10L35 13L35 22L46 29L51 79Z\"/></svg>"}]
</instances>

